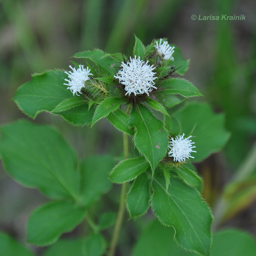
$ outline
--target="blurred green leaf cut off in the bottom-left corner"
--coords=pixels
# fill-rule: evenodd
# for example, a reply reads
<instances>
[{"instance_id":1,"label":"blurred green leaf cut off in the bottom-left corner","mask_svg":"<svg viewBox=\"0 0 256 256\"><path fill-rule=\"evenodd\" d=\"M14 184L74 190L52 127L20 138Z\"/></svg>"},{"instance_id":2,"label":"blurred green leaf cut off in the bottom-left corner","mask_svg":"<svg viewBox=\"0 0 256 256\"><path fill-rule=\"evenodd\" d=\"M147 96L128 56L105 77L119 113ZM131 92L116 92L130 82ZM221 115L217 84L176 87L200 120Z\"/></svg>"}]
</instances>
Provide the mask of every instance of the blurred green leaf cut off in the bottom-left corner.
<instances>
[{"instance_id":1,"label":"blurred green leaf cut off in the bottom-left corner","mask_svg":"<svg viewBox=\"0 0 256 256\"><path fill-rule=\"evenodd\" d=\"M27 248L4 233L0 233L0 248L1 256L33 256Z\"/></svg>"}]
</instances>

